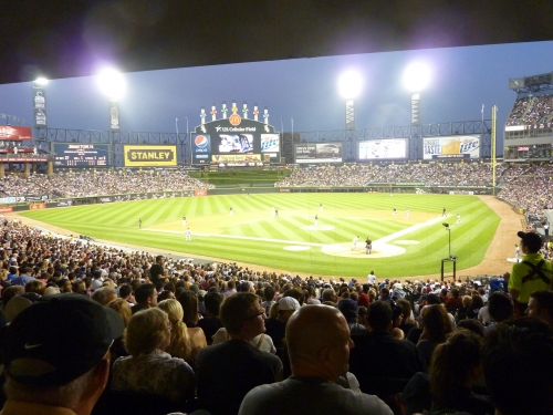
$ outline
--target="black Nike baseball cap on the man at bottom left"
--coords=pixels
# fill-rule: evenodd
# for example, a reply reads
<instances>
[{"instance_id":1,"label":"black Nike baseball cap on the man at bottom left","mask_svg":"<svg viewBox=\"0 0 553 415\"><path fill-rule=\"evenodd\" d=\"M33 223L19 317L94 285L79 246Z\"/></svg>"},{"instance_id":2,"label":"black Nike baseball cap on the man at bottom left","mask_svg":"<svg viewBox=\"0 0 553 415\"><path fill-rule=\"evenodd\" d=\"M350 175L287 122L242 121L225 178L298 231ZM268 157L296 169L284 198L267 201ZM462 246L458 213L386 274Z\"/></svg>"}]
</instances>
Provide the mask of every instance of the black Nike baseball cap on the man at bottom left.
<instances>
[{"instance_id":1,"label":"black Nike baseball cap on the man at bottom left","mask_svg":"<svg viewBox=\"0 0 553 415\"><path fill-rule=\"evenodd\" d=\"M23 384L65 385L98 364L124 330L115 310L87 297L42 297L7 328L4 371Z\"/></svg>"}]
</instances>

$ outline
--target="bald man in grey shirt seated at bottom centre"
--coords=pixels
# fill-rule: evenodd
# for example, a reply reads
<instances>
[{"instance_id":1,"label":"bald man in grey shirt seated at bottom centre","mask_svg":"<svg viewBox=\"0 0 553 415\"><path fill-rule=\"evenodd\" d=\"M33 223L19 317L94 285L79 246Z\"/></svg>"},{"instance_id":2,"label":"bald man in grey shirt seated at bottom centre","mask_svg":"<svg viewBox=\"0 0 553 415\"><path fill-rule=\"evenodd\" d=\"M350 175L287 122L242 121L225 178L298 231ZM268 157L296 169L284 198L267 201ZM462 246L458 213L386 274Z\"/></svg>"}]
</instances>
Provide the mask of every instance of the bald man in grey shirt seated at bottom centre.
<instances>
[{"instance_id":1,"label":"bald man in grey shirt seated at bottom centre","mask_svg":"<svg viewBox=\"0 0 553 415\"><path fill-rule=\"evenodd\" d=\"M347 322L335 308L301 308L286 325L286 344L292 376L250 391L239 414L392 414L376 396L336 384L346 375L353 342Z\"/></svg>"}]
</instances>

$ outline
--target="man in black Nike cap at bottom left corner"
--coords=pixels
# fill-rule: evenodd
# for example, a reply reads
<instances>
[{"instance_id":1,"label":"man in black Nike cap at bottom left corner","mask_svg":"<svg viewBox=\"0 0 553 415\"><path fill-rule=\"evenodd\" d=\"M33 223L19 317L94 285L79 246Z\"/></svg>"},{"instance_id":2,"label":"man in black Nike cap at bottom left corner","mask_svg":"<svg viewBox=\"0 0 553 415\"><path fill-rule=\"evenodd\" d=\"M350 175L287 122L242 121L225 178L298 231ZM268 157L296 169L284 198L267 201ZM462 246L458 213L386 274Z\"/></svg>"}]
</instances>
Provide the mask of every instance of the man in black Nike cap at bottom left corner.
<instances>
[{"instance_id":1,"label":"man in black Nike cap at bottom left corner","mask_svg":"<svg viewBox=\"0 0 553 415\"><path fill-rule=\"evenodd\" d=\"M109 346L124 324L81 294L41 298L8 326L1 415L90 415L105 388Z\"/></svg>"}]
</instances>

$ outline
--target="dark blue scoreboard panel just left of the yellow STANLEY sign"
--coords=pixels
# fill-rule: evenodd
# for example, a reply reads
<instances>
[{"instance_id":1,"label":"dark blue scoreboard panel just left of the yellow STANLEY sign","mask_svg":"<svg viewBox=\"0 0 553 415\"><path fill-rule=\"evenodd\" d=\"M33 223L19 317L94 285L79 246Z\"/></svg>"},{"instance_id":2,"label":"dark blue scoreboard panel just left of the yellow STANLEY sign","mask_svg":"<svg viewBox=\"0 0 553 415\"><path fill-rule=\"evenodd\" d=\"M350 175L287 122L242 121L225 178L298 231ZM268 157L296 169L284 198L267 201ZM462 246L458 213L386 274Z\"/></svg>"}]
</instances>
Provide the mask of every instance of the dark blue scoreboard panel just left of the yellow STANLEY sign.
<instances>
[{"instance_id":1,"label":"dark blue scoreboard panel just left of the yellow STANLEY sign","mask_svg":"<svg viewBox=\"0 0 553 415\"><path fill-rule=\"evenodd\" d=\"M106 167L109 166L108 144L52 143L56 167Z\"/></svg>"}]
</instances>

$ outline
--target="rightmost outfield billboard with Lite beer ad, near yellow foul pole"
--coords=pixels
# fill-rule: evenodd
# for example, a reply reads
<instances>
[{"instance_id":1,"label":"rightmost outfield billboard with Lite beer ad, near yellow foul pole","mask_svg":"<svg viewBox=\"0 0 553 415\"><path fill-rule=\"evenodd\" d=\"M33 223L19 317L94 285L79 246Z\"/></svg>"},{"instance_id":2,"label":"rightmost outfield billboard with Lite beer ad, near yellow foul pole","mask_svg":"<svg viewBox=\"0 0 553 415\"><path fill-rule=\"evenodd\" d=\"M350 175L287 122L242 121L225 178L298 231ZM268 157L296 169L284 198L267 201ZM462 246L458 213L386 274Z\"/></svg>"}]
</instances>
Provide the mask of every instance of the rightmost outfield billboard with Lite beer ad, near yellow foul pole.
<instances>
[{"instance_id":1,"label":"rightmost outfield billboard with Lite beer ad, near yellow foul pole","mask_svg":"<svg viewBox=\"0 0 553 415\"><path fill-rule=\"evenodd\" d=\"M422 139L422 158L479 158L479 135L453 135Z\"/></svg>"}]
</instances>

